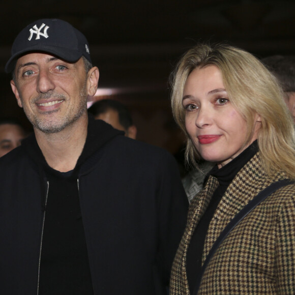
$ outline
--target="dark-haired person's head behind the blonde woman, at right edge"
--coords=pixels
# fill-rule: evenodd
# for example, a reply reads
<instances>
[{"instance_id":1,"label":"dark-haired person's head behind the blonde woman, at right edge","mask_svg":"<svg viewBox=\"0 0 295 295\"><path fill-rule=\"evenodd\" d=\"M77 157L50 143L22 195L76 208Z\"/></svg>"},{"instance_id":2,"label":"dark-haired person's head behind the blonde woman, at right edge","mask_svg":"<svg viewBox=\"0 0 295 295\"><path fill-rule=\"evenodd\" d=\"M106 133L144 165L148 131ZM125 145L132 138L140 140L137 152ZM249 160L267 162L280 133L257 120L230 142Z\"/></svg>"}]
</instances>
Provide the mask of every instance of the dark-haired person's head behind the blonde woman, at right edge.
<instances>
[{"instance_id":1,"label":"dark-haired person's head behind the blonde woman, at right edge","mask_svg":"<svg viewBox=\"0 0 295 295\"><path fill-rule=\"evenodd\" d=\"M283 88L285 102L295 124L295 56L272 55L262 58L262 62L277 77Z\"/></svg>"}]
</instances>

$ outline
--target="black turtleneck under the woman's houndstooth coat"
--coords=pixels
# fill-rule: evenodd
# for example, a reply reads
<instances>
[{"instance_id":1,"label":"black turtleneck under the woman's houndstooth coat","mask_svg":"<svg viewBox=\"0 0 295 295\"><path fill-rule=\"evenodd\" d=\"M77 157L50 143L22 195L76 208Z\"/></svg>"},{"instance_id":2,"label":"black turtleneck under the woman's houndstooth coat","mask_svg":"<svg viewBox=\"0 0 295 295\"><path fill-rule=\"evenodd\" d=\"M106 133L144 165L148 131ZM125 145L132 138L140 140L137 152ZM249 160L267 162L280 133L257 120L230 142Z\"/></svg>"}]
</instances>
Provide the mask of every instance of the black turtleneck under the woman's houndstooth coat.
<instances>
[{"instance_id":1,"label":"black turtleneck under the woman's houndstooth coat","mask_svg":"<svg viewBox=\"0 0 295 295\"><path fill-rule=\"evenodd\" d=\"M241 168L257 153L257 151L258 145L257 140L255 140L245 151L228 164L220 169L215 165L209 172L209 175L217 178L219 186L215 190L208 208L196 226L188 248L186 269L191 294L193 293L196 279L201 271L206 232L208 231L209 223L214 212L234 176L237 175Z\"/></svg>"}]
</instances>

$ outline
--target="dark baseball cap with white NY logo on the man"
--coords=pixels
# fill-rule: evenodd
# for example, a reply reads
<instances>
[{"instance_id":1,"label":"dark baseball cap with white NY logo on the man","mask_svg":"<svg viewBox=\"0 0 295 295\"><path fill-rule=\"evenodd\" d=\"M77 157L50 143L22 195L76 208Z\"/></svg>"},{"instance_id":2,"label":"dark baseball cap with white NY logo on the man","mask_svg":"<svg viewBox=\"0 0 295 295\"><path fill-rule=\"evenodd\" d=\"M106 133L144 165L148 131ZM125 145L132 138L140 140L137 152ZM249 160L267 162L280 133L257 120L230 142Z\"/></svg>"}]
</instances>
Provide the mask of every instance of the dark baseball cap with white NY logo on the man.
<instances>
[{"instance_id":1,"label":"dark baseball cap with white NY logo on the man","mask_svg":"<svg viewBox=\"0 0 295 295\"><path fill-rule=\"evenodd\" d=\"M11 57L5 71L11 73L18 57L33 51L51 53L70 63L85 56L91 63L86 37L61 19L40 19L26 26L12 44Z\"/></svg>"}]
</instances>

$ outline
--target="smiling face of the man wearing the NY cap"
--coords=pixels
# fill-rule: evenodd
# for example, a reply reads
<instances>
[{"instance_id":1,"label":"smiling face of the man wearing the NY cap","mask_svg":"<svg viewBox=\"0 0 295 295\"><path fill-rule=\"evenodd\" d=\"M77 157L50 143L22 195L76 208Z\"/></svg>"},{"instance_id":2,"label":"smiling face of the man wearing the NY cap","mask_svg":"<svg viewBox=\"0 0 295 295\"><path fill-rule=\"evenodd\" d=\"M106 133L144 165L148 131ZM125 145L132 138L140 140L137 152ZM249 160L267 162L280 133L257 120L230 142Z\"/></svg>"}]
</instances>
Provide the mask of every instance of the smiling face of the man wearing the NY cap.
<instances>
[{"instance_id":1,"label":"smiling face of the man wearing the NY cap","mask_svg":"<svg viewBox=\"0 0 295 295\"><path fill-rule=\"evenodd\" d=\"M34 129L56 133L86 113L87 82L82 58L67 63L50 54L29 53L18 59L11 86Z\"/></svg>"}]
</instances>

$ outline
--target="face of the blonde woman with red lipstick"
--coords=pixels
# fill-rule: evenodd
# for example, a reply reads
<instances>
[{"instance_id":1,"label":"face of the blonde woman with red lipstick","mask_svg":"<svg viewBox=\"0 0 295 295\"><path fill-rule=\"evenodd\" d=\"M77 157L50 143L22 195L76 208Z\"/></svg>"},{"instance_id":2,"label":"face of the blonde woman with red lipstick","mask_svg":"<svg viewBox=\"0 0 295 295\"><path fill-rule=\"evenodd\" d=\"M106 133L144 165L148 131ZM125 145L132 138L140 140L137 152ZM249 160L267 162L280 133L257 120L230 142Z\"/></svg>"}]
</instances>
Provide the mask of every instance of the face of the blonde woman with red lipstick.
<instances>
[{"instance_id":1,"label":"face of the blonde woman with red lipstick","mask_svg":"<svg viewBox=\"0 0 295 295\"><path fill-rule=\"evenodd\" d=\"M255 139L260 117L255 116L253 136L245 145L247 123L232 106L216 66L195 69L188 76L183 93L186 130L203 159L226 165Z\"/></svg>"}]
</instances>

